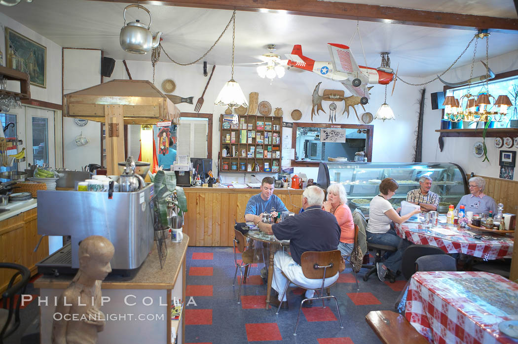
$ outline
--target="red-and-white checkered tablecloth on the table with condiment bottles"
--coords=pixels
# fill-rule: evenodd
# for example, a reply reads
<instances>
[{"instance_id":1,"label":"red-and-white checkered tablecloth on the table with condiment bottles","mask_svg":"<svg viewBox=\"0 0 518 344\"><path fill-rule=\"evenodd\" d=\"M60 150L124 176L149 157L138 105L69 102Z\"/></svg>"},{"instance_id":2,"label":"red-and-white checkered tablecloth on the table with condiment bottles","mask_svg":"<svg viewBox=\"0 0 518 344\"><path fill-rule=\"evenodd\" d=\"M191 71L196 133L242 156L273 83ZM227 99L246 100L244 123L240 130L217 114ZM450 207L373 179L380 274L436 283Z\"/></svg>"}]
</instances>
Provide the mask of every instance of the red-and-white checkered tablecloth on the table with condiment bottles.
<instances>
[{"instance_id":1,"label":"red-and-white checkered tablecloth on the table with condiment bottles","mask_svg":"<svg viewBox=\"0 0 518 344\"><path fill-rule=\"evenodd\" d=\"M446 253L464 253L485 260L511 258L513 239L507 235L485 233L486 238L474 238L471 230L457 229L456 226L442 225L443 228L458 233L444 235L427 228L421 223L404 222L395 225L398 236L407 238L414 244L437 246ZM491 238L492 240L488 240Z\"/></svg>"}]
</instances>

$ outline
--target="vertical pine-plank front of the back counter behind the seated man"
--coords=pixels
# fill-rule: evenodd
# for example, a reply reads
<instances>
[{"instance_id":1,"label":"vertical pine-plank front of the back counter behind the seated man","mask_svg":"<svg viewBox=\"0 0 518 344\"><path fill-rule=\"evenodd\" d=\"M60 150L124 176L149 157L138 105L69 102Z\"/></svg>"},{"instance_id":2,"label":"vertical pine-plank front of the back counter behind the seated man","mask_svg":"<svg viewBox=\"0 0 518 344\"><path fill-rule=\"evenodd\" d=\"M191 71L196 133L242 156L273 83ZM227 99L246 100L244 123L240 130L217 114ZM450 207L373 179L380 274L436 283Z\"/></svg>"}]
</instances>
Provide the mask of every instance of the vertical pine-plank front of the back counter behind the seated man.
<instances>
[{"instance_id":1,"label":"vertical pine-plank front of the back counter behind the seated man","mask_svg":"<svg viewBox=\"0 0 518 344\"><path fill-rule=\"evenodd\" d=\"M191 246L232 246L234 220L244 222L244 211L250 197L260 189L183 188L188 212L183 231L192 240ZM298 213L304 190L275 189L286 208Z\"/></svg>"}]
</instances>

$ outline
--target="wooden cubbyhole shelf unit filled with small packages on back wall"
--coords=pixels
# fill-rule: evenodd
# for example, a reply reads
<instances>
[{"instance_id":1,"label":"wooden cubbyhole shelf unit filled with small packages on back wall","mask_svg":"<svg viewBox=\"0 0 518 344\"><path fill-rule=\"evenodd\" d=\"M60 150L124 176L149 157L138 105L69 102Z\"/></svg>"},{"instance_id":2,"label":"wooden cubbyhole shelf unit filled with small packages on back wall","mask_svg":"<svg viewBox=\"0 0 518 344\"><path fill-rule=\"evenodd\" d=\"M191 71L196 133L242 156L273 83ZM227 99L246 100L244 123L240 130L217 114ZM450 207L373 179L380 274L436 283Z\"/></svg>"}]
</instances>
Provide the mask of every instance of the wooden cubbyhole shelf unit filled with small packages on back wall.
<instances>
[{"instance_id":1,"label":"wooden cubbyhole shelf unit filled with small packages on back wall","mask_svg":"<svg viewBox=\"0 0 518 344\"><path fill-rule=\"evenodd\" d=\"M226 124L224 116L222 114L220 117L221 155L218 162L220 164L220 172L280 172L282 161L282 117L238 115L238 124L233 125L228 122ZM258 122L263 123L262 129L261 127L257 129ZM271 123L271 125L267 127L266 123ZM243 127L243 124L246 125L246 128ZM227 126L229 127L227 128ZM234 142L232 142L233 133ZM244 143L241 143L241 134L246 135ZM257 134L260 134L260 139ZM257 143L258 140L262 140L263 143ZM252 147L254 149L252 157L248 157L249 152L252 152ZM223 157L224 148L228 148L226 157ZM263 153L258 156L258 151ZM233 155L234 152L235 156ZM266 155L264 152L266 152ZM268 155L268 152L271 154ZM237 168L232 169L233 163ZM243 163L244 170L242 167ZM268 164L269 171L265 171L265 163ZM226 166L228 166L228 169L225 169ZM256 170L256 166L258 166L258 170Z\"/></svg>"}]
</instances>

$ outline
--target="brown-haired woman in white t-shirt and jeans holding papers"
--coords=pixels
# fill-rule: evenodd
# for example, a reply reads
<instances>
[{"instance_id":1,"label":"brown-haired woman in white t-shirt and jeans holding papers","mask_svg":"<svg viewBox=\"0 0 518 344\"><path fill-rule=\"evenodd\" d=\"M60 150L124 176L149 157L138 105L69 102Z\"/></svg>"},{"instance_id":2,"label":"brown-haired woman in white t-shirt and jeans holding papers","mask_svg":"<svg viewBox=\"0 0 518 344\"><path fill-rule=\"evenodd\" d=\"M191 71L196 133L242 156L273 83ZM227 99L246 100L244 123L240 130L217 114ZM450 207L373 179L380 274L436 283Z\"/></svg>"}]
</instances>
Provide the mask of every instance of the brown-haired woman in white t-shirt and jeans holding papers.
<instances>
[{"instance_id":1,"label":"brown-haired woman in white t-shirt and jeans holding papers","mask_svg":"<svg viewBox=\"0 0 518 344\"><path fill-rule=\"evenodd\" d=\"M396 231L391 229L391 222L403 223L420 212L420 209L416 209L404 216L396 213L389 200L394 196L398 187L399 185L393 178L385 178L380 183L380 194L370 201L369 206L369 222L366 228L367 242L397 247L397 251L383 263L376 264L380 281L385 280L387 271L395 274L399 270L403 253L410 244L409 241L397 236Z\"/></svg>"}]
</instances>

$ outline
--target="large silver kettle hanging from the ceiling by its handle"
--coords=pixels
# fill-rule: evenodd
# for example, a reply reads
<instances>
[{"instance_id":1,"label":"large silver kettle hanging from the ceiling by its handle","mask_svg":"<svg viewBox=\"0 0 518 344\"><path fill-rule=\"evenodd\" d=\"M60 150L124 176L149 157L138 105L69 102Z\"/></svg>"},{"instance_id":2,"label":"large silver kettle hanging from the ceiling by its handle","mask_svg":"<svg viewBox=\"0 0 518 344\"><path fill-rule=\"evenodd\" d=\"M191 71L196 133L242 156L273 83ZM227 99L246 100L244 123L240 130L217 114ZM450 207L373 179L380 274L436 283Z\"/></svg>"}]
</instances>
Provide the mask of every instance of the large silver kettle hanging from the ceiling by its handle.
<instances>
[{"instance_id":1,"label":"large silver kettle hanging from the ceiling by its handle","mask_svg":"<svg viewBox=\"0 0 518 344\"><path fill-rule=\"evenodd\" d=\"M137 7L145 10L149 14L149 25L142 24L139 20L126 24L126 10L130 7ZM151 27L151 12L142 5L132 4L124 8L124 26L121 29L119 41L122 49L128 53L146 54L151 49L159 46L161 32L157 33L155 37L149 31Z\"/></svg>"}]
</instances>

